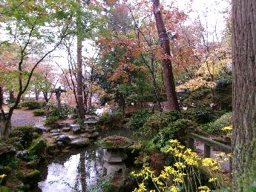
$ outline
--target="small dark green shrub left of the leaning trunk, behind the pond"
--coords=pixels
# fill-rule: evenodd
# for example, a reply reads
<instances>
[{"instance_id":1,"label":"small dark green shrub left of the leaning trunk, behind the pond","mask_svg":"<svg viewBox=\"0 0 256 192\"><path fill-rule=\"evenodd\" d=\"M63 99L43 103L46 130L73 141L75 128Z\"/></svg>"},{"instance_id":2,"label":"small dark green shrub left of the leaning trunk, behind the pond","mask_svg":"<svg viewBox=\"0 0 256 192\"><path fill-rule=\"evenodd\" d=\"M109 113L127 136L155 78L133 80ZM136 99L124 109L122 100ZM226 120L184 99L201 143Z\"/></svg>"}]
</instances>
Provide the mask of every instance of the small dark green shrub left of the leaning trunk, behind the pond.
<instances>
[{"instance_id":1,"label":"small dark green shrub left of the leaning trunk, behind the pond","mask_svg":"<svg viewBox=\"0 0 256 192\"><path fill-rule=\"evenodd\" d=\"M142 128L145 120L148 118L148 116L151 116L151 112L149 110L138 110L135 112L132 116L132 119L128 122L128 125L131 126L131 128Z\"/></svg>"}]
</instances>

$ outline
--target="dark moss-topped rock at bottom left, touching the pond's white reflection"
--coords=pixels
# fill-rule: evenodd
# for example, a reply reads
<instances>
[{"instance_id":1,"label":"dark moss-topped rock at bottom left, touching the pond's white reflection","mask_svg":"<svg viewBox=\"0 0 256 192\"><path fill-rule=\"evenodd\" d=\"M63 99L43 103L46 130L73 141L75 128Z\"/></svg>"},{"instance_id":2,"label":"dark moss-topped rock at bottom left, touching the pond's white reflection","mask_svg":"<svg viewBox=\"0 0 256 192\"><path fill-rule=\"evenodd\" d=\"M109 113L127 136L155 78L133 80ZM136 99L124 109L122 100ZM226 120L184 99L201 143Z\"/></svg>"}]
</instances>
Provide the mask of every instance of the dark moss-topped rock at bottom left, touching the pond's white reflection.
<instances>
[{"instance_id":1,"label":"dark moss-topped rock at bottom left, touching the pond's white reflection","mask_svg":"<svg viewBox=\"0 0 256 192\"><path fill-rule=\"evenodd\" d=\"M36 186L42 180L42 175L40 171L34 170L26 174L20 173L20 179L24 185Z\"/></svg>"}]
</instances>

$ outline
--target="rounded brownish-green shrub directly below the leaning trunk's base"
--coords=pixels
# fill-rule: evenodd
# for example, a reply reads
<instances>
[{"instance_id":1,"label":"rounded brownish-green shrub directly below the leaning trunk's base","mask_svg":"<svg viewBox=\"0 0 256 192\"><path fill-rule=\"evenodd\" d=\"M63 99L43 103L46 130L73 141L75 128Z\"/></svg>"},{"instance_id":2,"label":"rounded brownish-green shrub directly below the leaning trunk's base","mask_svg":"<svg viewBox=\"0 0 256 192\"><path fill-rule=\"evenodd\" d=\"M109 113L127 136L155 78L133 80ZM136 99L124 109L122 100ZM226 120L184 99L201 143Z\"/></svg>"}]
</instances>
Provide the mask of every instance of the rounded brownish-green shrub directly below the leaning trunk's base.
<instances>
[{"instance_id":1,"label":"rounded brownish-green shrub directly below the leaning trunk's base","mask_svg":"<svg viewBox=\"0 0 256 192\"><path fill-rule=\"evenodd\" d=\"M177 111L154 113L145 120L145 124L140 128L142 136L152 137L158 130L167 127L171 122L180 119L181 114Z\"/></svg>"}]
</instances>

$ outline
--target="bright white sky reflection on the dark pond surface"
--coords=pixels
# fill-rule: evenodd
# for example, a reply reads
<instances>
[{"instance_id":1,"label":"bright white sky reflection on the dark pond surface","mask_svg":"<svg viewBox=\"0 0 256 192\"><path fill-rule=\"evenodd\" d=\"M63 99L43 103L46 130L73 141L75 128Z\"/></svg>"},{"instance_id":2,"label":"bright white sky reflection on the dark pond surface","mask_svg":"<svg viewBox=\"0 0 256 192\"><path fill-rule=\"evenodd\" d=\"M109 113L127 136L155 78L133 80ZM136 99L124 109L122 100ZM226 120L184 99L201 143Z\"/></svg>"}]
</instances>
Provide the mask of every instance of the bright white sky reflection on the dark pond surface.
<instances>
[{"instance_id":1,"label":"bright white sky reflection on the dark pond surface","mask_svg":"<svg viewBox=\"0 0 256 192\"><path fill-rule=\"evenodd\" d=\"M86 191L102 176L104 150L90 146L86 151L67 157L57 157L47 171L45 180L39 182L43 192Z\"/></svg>"}]
</instances>

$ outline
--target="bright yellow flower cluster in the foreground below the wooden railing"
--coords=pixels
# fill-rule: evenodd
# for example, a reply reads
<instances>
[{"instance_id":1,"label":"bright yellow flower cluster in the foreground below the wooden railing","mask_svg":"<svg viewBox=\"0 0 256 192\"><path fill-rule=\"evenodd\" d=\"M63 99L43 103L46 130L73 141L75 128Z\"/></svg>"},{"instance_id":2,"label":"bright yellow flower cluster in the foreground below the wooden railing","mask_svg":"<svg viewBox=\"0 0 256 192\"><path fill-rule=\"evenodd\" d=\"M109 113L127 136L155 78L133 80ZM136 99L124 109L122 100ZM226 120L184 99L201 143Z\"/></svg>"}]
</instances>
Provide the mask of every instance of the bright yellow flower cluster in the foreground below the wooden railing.
<instances>
[{"instance_id":1,"label":"bright yellow flower cluster in the foreground below the wooden railing","mask_svg":"<svg viewBox=\"0 0 256 192\"><path fill-rule=\"evenodd\" d=\"M134 192L147 191L145 187L145 181L151 179L157 191L180 191L180 186L186 185L185 180L188 178L188 170L193 169L195 166L203 165L209 168L209 171L216 172L220 170L220 165L215 159L204 158L201 159L197 153L194 153L191 149L186 149L177 140L170 140L170 146L166 153L172 153L176 162L173 166L165 166L159 176L154 174L147 166L143 166L139 173L131 172L132 176L142 178L142 183L139 184L139 188L136 188ZM224 156L223 153L220 156ZM217 182L217 177L212 177L209 182ZM210 191L207 186L200 186L198 191ZM153 192L153 191L152 191Z\"/></svg>"}]
</instances>

